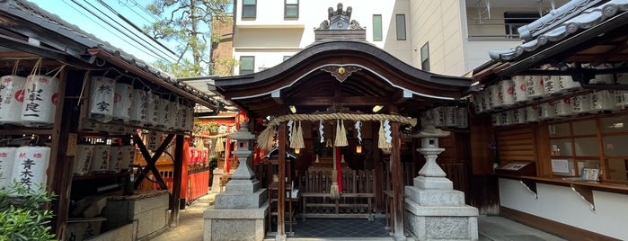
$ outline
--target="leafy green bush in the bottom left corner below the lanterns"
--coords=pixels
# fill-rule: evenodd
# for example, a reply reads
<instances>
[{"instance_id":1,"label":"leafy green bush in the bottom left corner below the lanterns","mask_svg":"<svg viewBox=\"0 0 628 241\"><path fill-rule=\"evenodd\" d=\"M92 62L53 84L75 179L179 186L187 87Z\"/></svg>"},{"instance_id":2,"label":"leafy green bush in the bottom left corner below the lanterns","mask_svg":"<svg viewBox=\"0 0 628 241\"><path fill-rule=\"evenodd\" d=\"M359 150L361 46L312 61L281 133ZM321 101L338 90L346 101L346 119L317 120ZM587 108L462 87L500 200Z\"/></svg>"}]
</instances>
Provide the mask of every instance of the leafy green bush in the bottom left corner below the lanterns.
<instances>
[{"instance_id":1,"label":"leafy green bush in the bottom left corner below the lanterns","mask_svg":"<svg viewBox=\"0 0 628 241\"><path fill-rule=\"evenodd\" d=\"M17 182L0 189L0 241L53 240L53 214L46 209L53 196L44 188L31 190Z\"/></svg>"}]
</instances>

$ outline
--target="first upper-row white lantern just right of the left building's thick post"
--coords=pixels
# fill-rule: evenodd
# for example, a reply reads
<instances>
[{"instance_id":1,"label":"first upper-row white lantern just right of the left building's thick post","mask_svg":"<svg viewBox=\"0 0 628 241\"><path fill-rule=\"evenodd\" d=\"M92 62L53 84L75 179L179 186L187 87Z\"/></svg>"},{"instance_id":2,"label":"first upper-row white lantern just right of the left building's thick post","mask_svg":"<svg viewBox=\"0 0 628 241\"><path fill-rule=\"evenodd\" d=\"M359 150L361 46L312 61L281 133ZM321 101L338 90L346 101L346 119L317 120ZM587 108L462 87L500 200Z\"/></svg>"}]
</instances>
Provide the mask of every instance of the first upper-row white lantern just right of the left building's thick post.
<instances>
[{"instance_id":1,"label":"first upper-row white lantern just right of the left building's thick post","mask_svg":"<svg viewBox=\"0 0 628 241\"><path fill-rule=\"evenodd\" d=\"M103 123L111 121L113 119L116 80L104 76L93 76L91 90L90 118Z\"/></svg>"}]
</instances>

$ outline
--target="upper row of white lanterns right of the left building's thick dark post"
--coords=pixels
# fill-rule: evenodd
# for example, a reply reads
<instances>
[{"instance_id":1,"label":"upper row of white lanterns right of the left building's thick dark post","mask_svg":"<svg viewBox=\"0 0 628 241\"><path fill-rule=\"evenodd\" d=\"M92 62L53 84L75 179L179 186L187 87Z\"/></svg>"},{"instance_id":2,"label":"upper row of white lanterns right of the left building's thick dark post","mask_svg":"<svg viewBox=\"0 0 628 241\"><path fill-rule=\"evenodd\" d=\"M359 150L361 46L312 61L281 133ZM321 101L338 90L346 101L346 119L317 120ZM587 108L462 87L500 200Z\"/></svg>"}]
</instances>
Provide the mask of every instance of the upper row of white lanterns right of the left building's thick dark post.
<instances>
[{"instance_id":1,"label":"upper row of white lanterns right of the left building's thick dark post","mask_svg":"<svg viewBox=\"0 0 628 241\"><path fill-rule=\"evenodd\" d=\"M88 114L92 120L186 131L194 126L194 109L180 96L146 92L104 76L93 76L91 85Z\"/></svg>"}]
</instances>

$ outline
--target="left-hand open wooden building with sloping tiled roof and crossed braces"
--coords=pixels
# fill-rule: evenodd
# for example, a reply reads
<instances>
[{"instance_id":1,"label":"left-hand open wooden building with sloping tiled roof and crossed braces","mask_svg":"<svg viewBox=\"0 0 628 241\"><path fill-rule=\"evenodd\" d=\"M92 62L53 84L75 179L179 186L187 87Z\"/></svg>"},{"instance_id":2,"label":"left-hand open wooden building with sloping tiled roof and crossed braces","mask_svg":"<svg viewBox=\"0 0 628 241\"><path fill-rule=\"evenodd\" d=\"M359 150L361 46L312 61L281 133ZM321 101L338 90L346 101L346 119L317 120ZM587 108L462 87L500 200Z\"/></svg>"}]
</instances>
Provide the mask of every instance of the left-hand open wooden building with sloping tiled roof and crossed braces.
<instances>
[{"instance_id":1,"label":"left-hand open wooden building with sloping tiled roof and crossed braces","mask_svg":"<svg viewBox=\"0 0 628 241\"><path fill-rule=\"evenodd\" d=\"M105 227L107 230L127 228L124 232L127 236L111 236L112 232L108 232L110 237L102 237L108 240L146 238L159 230L176 225L181 191L181 165L184 156L183 140L185 136L191 134L194 105L200 104L210 109L217 108L211 97L27 1L8 0L0 3L0 39L2 39L0 40L0 63L2 64L0 74L4 76L3 97L6 97L3 98L1 108L6 109L9 106L4 101L8 103L9 100L13 100L13 97L20 101L22 99L18 98L20 96L29 102L39 99L48 101L49 98L52 102L47 103L46 106L49 107L37 110L40 111L37 112L39 115L43 112L50 112L49 121L7 121L12 116L19 118L22 115L23 119L24 110L34 110L34 105L30 105L31 108L27 109L18 107L13 113L4 112L0 118L3 124L0 127L0 137L3 141L7 140L6 143L2 143L3 146L20 144L12 140L27 136L34 139L31 145L48 148L48 168L44 168L39 177L43 176L42 183L48 191L56 193L49 207L54 210L52 224L57 238L74 240L74 238L85 237L83 234L76 234L76 230L69 230L75 223L90 223L92 228L100 229L100 223L103 222L102 231L106 231ZM31 77L37 75L40 76ZM51 85L42 85L33 91L29 89L30 85L24 87L22 83L22 86L18 86L13 82L14 90L26 91L26 94L13 96L13 93L5 93L13 76L15 79L22 78L31 81L29 83L32 85L40 85L40 82ZM29 78L25 78L26 76ZM96 92L91 88L91 84L94 83L96 76L111 80L111 83L116 83L116 85L124 83L128 88L144 94L160 93L162 97L154 98L154 100L164 104L146 103L146 105L155 108L172 106L172 109L167 112L164 109L150 110L160 115L170 114L169 117L156 117L158 121L169 121L167 123L155 122L150 126L145 125L148 122L146 120L94 121L94 118L98 116L94 115L95 111L90 110L88 106L95 103L93 98ZM36 83L35 80L39 82ZM46 81L42 82L42 80ZM107 94L114 92L113 85L108 84L103 88L108 90ZM57 89L57 92L51 96L42 97L45 92L53 89ZM136 96L136 94L132 95ZM120 97L124 99L125 96L128 97L128 95ZM111 97L111 99L114 98ZM141 99L134 102L142 103L137 106L145 104ZM38 106L44 107L43 104ZM101 105L101 107L100 111L104 109L111 111L111 107L115 108L116 105ZM144 114L144 117L153 116L148 113L149 110L142 110L144 112L141 114ZM176 110L179 112L175 112ZM30 116L35 116L35 114L30 114ZM132 117L129 119L132 120ZM139 136L139 130L143 137ZM152 136L154 132L162 134ZM145 143L146 136L154 137L150 141L152 143ZM111 168L108 168L108 165L102 165L105 169L86 170L77 174L75 165L81 161L78 157L81 154L79 147L83 144L82 141L87 140L99 142L102 147L113 146L109 145L109 142L130 146L132 152L137 151L144 157L146 166L128 166L127 164L127 166L111 165L109 166ZM174 143L172 148L168 148L172 142ZM131 143L138 147L137 150L131 146ZM155 145L155 148L150 148L149 145ZM164 178L155 167L157 158L162 156L164 151L172 155L174 162L172 192L167 191ZM105 159L104 156L109 156L103 153L105 152L102 152L100 156L102 160ZM104 161L102 163L104 164ZM79 166L80 168L82 166ZM135 170L135 179L129 179L129 170ZM2 171L5 174L5 170L2 169ZM134 190L133 183L130 182L136 182L137 188L137 184L144 180L147 174L154 176L154 181L160 187L160 191ZM19 180L22 182L25 179ZM103 209L101 204L93 207L95 211L90 213L89 217L86 217L84 212L76 213L76 203L91 196L99 197L99 203L106 201L107 206L115 206L112 205L113 202L127 201L132 202L129 203L131 206L146 205L143 210L155 210L155 212L146 212L142 213L144 216L127 219L126 212L129 211L129 215L133 215L133 210L128 210L129 206L126 205L119 206L119 210L112 210L114 217L103 218L99 215ZM159 208L155 209L155 207ZM166 218L166 210L172 210L170 217ZM99 216L93 217L95 215ZM146 219L146 217L149 218ZM112 225L118 219L119 223Z\"/></svg>"}]
</instances>

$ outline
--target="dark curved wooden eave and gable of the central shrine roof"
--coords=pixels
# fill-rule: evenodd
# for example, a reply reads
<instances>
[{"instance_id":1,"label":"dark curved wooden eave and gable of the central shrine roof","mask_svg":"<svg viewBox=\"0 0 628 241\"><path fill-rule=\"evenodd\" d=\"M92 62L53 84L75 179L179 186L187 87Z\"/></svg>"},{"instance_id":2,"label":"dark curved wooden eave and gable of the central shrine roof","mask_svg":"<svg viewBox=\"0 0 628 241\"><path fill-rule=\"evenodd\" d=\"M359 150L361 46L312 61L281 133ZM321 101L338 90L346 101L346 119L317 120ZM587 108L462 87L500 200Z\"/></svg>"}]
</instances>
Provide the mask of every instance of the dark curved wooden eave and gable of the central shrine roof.
<instances>
[{"instance_id":1,"label":"dark curved wooden eave and gable of the central shrine roof","mask_svg":"<svg viewBox=\"0 0 628 241\"><path fill-rule=\"evenodd\" d=\"M323 67L358 70L341 82ZM470 78L422 71L359 41L318 43L276 67L214 81L226 99L256 115L272 115L287 105L296 105L299 112L324 111L339 104L360 112L378 104L416 111L458 100L471 85Z\"/></svg>"}]
</instances>

